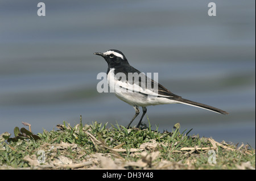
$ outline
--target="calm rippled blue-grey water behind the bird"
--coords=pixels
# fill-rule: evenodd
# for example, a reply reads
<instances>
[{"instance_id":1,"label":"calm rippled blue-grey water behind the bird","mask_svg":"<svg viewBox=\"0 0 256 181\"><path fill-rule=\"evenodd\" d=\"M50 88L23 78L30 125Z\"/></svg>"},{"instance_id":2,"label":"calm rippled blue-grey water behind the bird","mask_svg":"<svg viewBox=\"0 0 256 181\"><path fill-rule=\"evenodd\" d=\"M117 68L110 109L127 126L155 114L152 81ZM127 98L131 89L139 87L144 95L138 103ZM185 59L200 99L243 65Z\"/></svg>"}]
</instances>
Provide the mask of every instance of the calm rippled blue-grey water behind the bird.
<instances>
[{"instance_id":1,"label":"calm rippled blue-grey water behind the bird","mask_svg":"<svg viewBox=\"0 0 256 181\"><path fill-rule=\"evenodd\" d=\"M127 125L133 107L96 90L107 64L93 52L119 49L175 94L230 113L151 106L153 128L171 131L179 122L192 134L255 148L254 1L216 1L215 17L203 0L44 3L39 17L36 2L0 1L1 133L22 121L38 133L79 123L80 115L84 124Z\"/></svg>"}]
</instances>

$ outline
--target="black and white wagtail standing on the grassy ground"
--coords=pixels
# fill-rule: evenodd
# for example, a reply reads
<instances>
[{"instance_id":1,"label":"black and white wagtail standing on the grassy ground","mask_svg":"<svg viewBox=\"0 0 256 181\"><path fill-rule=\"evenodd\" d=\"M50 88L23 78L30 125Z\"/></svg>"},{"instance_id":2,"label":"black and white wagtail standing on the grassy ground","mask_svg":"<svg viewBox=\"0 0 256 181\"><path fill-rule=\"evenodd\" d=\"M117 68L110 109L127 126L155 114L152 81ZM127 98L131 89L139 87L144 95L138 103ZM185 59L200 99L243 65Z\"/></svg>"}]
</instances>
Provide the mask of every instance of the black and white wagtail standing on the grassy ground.
<instances>
[{"instance_id":1,"label":"black and white wagtail standing on the grassy ground","mask_svg":"<svg viewBox=\"0 0 256 181\"><path fill-rule=\"evenodd\" d=\"M119 99L130 104L135 109L135 115L127 125L127 128L130 127L131 123L133 123L133 120L139 115L139 107L142 107L143 113L137 128L139 128L139 125L141 125L141 121L147 112L146 107L159 104L181 103L224 115L228 114L228 112L218 108L202 103L193 102L188 99L183 99L181 96L173 94L164 86L141 73L141 71L133 68L133 66L131 66L127 61L125 55L119 50L110 49L104 53L96 52L94 54L102 56L108 63L107 79L110 90L114 90L115 95ZM118 74L125 76L116 76ZM139 78L129 79L129 74L139 75Z\"/></svg>"}]
</instances>

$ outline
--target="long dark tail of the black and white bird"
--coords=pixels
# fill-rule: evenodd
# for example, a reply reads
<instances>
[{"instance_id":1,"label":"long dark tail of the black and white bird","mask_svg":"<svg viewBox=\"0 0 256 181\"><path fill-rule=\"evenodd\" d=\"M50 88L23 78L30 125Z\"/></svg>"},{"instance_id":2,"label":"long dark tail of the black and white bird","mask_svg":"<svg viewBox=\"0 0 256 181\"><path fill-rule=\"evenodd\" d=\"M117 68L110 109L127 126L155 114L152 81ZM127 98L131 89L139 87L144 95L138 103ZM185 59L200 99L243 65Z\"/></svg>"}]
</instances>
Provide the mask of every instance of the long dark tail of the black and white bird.
<instances>
[{"instance_id":1,"label":"long dark tail of the black and white bird","mask_svg":"<svg viewBox=\"0 0 256 181\"><path fill-rule=\"evenodd\" d=\"M188 100L188 99L183 99L183 98L176 98L175 99L175 98L172 98L172 100L176 100L177 102L179 102L181 104L187 104L189 106L195 106L195 107L203 108L205 110L221 113L223 115L228 115L229 114L228 112L220 110L220 109L218 109L216 107L208 106L208 105L202 104L202 103L193 102L192 100Z\"/></svg>"}]
</instances>

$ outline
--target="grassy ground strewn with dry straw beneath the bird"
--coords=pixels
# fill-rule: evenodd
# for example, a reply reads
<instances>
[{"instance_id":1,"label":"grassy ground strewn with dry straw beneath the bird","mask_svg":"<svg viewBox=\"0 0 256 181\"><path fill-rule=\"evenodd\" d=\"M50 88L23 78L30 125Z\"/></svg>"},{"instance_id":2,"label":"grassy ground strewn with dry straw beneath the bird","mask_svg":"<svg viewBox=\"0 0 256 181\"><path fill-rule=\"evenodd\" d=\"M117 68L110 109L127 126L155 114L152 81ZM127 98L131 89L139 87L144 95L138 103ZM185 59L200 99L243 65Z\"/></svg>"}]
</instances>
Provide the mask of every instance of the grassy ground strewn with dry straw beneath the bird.
<instances>
[{"instance_id":1,"label":"grassy ground strewn with dry straw beneath the bird","mask_svg":"<svg viewBox=\"0 0 256 181\"><path fill-rule=\"evenodd\" d=\"M97 122L71 127L64 122L57 131L38 133L36 141L7 142L0 137L0 169L255 169L250 146L236 148L189 136L190 131L180 133L179 124L175 126L172 132L159 132L151 125L126 129ZM210 163L213 156L216 162Z\"/></svg>"}]
</instances>

